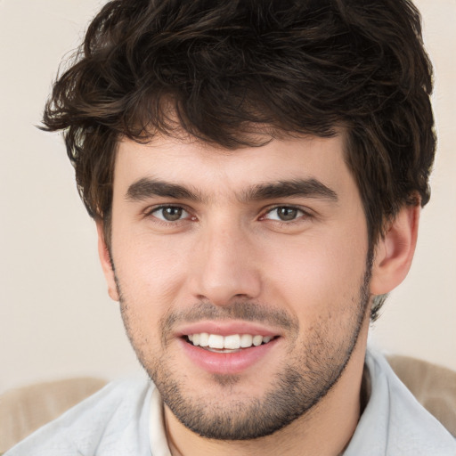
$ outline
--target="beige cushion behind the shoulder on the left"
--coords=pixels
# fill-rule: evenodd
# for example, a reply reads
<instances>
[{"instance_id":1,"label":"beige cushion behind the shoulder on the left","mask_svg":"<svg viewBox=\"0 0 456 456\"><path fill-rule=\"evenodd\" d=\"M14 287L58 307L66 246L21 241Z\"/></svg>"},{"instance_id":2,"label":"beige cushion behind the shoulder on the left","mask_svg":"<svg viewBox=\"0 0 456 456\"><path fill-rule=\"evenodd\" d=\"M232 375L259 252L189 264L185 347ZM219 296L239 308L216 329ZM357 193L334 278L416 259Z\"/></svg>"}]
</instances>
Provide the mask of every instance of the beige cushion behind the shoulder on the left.
<instances>
[{"instance_id":1,"label":"beige cushion behind the shoulder on the left","mask_svg":"<svg viewBox=\"0 0 456 456\"><path fill-rule=\"evenodd\" d=\"M0 453L106 385L103 379L37 383L0 395Z\"/></svg>"}]
</instances>

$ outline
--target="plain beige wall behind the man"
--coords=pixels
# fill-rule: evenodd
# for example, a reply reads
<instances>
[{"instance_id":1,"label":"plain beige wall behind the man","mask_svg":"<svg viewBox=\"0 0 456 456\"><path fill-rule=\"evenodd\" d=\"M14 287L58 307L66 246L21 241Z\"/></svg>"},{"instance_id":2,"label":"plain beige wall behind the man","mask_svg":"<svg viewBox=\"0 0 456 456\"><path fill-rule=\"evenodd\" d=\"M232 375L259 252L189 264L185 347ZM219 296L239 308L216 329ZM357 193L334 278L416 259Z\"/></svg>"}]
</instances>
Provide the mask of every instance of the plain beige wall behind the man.
<instances>
[{"instance_id":1,"label":"plain beige wall behind the man","mask_svg":"<svg viewBox=\"0 0 456 456\"><path fill-rule=\"evenodd\" d=\"M96 0L0 0L0 391L140 369L107 297L94 224L59 135L37 130ZM419 0L436 66L439 151L415 263L372 338L456 369L456 1Z\"/></svg>"}]
</instances>

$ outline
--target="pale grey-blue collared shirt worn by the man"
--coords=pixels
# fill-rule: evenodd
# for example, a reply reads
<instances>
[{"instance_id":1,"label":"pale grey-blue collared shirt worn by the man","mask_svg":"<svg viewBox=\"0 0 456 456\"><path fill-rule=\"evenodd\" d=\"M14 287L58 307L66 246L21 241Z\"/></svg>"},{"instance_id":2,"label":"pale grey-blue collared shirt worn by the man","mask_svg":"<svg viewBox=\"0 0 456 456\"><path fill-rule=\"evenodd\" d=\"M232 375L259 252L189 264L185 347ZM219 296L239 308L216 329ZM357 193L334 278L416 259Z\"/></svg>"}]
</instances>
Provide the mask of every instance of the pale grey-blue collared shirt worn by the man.
<instances>
[{"instance_id":1,"label":"pale grey-blue collared shirt worn by the man","mask_svg":"<svg viewBox=\"0 0 456 456\"><path fill-rule=\"evenodd\" d=\"M344 456L455 456L456 439L368 349L371 396ZM158 390L111 383L4 456L170 456Z\"/></svg>"}]
</instances>

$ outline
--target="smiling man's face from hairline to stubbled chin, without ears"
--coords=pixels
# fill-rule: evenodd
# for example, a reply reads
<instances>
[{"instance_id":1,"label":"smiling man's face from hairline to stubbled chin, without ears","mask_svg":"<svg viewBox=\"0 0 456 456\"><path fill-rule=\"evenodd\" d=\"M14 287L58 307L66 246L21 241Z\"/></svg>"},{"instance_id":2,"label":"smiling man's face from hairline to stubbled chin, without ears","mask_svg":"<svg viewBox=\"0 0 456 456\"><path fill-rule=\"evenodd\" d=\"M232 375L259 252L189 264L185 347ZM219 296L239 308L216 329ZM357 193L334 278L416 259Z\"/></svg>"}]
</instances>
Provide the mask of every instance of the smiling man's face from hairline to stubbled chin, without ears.
<instances>
[{"instance_id":1,"label":"smiling man's face from hairline to stubbled chin, without ears","mask_svg":"<svg viewBox=\"0 0 456 456\"><path fill-rule=\"evenodd\" d=\"M343 138L118 147L111 295L171 410L265 436L336 384L368 324L368 240Z\"/></svg>"}]
</instances>

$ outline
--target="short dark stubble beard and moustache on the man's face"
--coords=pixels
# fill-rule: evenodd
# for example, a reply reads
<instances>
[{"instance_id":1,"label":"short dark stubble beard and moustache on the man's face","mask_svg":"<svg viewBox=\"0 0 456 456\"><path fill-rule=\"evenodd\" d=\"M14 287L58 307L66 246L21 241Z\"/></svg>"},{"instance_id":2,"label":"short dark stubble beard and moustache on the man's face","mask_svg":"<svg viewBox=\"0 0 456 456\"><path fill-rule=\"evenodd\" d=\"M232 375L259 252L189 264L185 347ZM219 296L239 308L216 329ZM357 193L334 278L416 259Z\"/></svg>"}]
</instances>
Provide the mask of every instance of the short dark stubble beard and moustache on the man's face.
<instances>
[{"instance_id":1,"label":"short dark stubble beard and moustache on the man's face","mask_svg":"<svg viewBox=\"0 0 456 456\"><path fill-rule=\"evenodd\" d=\"M344 331L342 339L334 341L331 338L330 332L334 328L326 321L316 324L312 336L302 344L298 354L290 355L284 360L281 369L273 375L271 387L263 397L247 400L233 398L229 405L225 402L217 403L217 397L208 397L204 390L199 396L189 397L185 393L185 384L191 382L191 379L179 371L179 366L173 363L165 349L161 355L151 359L151 347L147 347L146 353L134 338L127 311L128 305L122 299L119 286L118 291L128 338L138 360L175 417L199 436L217 440L249 440L269 436L295 419L305 416L336 385L353 354L369 309L370 281L371 258L368 258L358 296L353 297L349 304L354 306L355 312L346 327L338 329ZM265 307L251 303L235 303L232 307L222 310L209 306L210 304L204 303L195 305L194 312L189 314L189 318L190 315L196 318L197 309L206 309L202 311L203 314L199 313L199 318L208 317L209 314L212 318L226 318L227 314L230 314L232 318L256 321L277 322L277 319L289 319L283 314L265 314ZM334 318L337 316L333 316ZM168 315L166 321L161 322L162 348L166 348L167 333L171 332L168 327L173 319L175 315ZM288 322L291 332L292 328L298 327L296 321L289 319ZM281 321L280 324L283 326L285 323ZM261 372L258 375L261 376ZM214 384L224 388L226 396L235 391L236 385L241 381L241 375L214 375L212 379Z\"/></svg>"}]
</instances>

